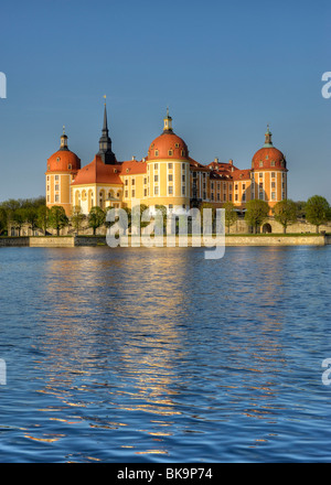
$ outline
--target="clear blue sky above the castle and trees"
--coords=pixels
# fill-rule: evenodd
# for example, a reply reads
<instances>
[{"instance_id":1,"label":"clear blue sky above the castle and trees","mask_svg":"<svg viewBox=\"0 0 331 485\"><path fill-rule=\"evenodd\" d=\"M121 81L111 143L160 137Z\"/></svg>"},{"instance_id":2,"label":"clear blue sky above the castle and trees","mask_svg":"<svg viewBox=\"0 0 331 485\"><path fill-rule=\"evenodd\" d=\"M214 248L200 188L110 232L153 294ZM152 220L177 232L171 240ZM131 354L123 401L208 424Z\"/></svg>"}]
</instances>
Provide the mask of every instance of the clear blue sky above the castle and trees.
<instances>
[{"instance_id":1,"label":"clear blue sky above the castle and trees","mask_svg":"<svg viewBox=\"0 0 331 485\"><path fill-rule=\"evenodd\" d=\"M2 0L0 201L44 195L65 125L82 164L104 98L117 159L141 159L169 106L201 163L250 168L267 123L289 197L331 203L330 0Z\"/></svg>"}]
</instances>

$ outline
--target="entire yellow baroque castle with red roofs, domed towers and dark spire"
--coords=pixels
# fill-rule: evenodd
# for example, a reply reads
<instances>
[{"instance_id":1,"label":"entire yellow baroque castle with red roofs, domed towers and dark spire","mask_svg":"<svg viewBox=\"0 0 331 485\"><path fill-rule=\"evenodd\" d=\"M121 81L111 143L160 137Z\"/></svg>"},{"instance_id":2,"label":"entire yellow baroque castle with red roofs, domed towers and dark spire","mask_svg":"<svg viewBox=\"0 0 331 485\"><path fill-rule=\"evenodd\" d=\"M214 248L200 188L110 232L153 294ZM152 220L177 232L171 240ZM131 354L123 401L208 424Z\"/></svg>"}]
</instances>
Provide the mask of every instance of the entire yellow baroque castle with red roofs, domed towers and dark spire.
<instances>
[{"instance_id":1,"label":"entire yellow baroque castle with red roofs, domed towers and dark spire","mask_svg":"<svg viewBox=\"0 0 331 485\"><path fill-rule=\"evenodd\" d=\"M285 155L273 146L269 127L250 169L241 170L232 160L195 161L184 140L174 133L168 110L163 131L149 146L147 157L118 161L111 150L105 104L99 150L87 165L81 166L63 131L60 149L47 160L46 205L60 205L68 216L74 206L88 214L96 205L130 208L137 200L151 213L157 205L178 213L203 203L222 207L226 202L245 212L248 201L259 198L271 212L277 202L287 198L287 172Z\"/></svg>"}]
</instances>

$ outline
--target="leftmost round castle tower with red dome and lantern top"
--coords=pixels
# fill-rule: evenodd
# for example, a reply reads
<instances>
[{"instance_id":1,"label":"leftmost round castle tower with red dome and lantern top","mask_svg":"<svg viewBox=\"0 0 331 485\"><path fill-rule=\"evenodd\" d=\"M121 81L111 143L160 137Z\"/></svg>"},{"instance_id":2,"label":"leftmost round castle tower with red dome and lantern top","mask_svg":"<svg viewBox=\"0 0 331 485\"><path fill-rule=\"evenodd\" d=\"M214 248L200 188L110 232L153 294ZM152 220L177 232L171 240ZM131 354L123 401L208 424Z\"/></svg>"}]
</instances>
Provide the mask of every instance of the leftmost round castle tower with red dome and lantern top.
<instances>
[{"instance_id":1,"label":"leftmost round castle tower with red dome and lantern top","mask_svg":"<svg viewBox=\"0 0 331 485\"><path fill-rule=\"evenodd\" d=\"M81 159L67 147L67 136L63 127L60 149L47 160L46 206L61 205L71 215L71 182L81 170Z\"/></svg>"}]
</instances>

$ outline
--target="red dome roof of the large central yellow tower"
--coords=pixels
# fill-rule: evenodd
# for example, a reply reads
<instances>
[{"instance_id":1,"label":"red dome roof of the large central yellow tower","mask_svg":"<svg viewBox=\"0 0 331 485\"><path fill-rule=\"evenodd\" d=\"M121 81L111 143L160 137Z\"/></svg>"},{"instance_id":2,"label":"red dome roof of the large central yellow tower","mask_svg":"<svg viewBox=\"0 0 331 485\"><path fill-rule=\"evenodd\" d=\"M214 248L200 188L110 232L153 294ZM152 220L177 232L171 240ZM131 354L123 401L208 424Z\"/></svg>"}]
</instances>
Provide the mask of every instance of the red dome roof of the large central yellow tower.
<instances>
[{"instance_id":1,"label":"red dome roof of the large central yellow tower","mask_svg":"<svg viewBox=\"0 0 331 485\"><path fill-rule=\"evenodd\" d=\"M156 138L149 147L148 159L181 159L188 160L188 146L173 132L164 132Z\"/></svg>"}]
</instances>

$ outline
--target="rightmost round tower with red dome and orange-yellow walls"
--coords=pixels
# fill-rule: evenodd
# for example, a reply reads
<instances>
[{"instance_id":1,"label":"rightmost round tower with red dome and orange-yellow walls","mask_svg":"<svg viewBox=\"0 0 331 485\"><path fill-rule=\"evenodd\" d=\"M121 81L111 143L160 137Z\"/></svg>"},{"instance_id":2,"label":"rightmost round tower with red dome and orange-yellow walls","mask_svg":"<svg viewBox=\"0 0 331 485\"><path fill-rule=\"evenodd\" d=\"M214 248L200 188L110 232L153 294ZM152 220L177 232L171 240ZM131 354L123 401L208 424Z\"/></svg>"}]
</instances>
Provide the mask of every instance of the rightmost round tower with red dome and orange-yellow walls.
<instances>
[{"instance_id":1,"label":"rightmost round tower with red dome and orange-yellow walls","mask_svg":"<svg viewBox=\"0 0 331 485\"><path fill-rule=\"evenodd\" d=\"M273 133L267 127L265 144L252 160L252 196L266 201L270 207L287 198L287 162L285 155L271 141Z\"/></svg>"}]
</instances>

